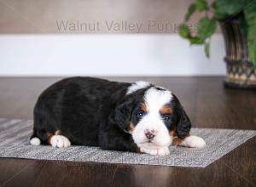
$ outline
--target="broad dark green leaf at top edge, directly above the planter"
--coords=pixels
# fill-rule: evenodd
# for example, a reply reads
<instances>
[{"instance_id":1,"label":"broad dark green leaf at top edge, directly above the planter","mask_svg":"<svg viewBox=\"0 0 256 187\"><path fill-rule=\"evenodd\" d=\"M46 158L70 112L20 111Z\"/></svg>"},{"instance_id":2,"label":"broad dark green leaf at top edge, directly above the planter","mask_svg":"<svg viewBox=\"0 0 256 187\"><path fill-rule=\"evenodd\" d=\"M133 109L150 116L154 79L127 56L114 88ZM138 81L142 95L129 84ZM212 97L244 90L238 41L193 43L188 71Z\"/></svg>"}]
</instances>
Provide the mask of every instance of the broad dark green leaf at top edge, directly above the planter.
<instances>
[{"instance_id":1,"label":"broad dark green leaf at top edge, directly above the planter","mask_svg":"<svg viewBox=\"0 0 256 187\"><path fill-rule=\"evenodd\" d=\"M247 0L215 0L212 4L214 16L218 20L238 14L246 6Z\"/></svg>"}]
</instances>

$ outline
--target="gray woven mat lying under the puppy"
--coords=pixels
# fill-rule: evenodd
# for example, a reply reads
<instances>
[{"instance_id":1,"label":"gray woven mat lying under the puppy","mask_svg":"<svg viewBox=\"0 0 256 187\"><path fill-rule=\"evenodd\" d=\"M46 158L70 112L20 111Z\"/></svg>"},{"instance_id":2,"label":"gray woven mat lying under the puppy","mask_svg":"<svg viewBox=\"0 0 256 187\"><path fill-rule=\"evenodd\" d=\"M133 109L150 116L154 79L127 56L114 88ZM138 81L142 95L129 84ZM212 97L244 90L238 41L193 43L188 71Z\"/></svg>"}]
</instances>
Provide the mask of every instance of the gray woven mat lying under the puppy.
<instances>
[{"instance_id":1,"label":"gray woven mat lying under the puppy","mask_svg":"<svg viewBox=\"0 0 256 187\"><path fill-rule=\"evenodd\" d=\"M32 146L29 144L31 134L32 120L0 118L0 157L207 167L230 150L253 138L256 131L192 128L191 134L205 139L207 146L203 149L171 146L169 156L150 156L148 154L101 150L98 147L86 146L71 146L61 149L52 148L49 145Z\"/></svg>"}]
</instances>

